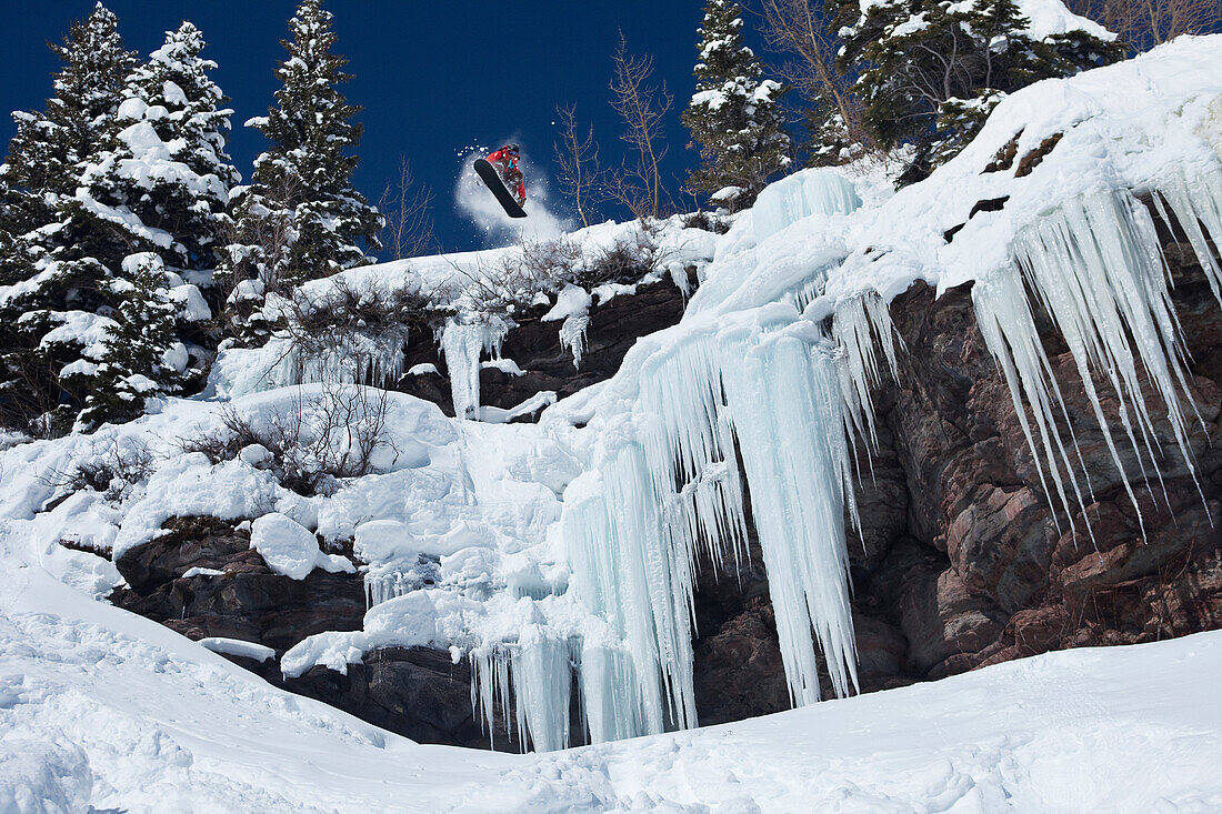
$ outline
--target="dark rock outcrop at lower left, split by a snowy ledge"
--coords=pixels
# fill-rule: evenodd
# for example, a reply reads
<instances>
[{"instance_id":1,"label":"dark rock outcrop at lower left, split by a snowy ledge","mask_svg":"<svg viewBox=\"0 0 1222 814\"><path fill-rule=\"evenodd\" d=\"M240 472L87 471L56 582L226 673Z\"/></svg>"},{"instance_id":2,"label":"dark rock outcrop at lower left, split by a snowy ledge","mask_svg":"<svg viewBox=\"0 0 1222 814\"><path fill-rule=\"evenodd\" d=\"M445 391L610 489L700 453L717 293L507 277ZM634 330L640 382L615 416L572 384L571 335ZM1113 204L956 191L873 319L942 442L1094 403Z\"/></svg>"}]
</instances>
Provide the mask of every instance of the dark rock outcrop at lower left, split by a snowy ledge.
<instances>
[{"instance_id":1,"label":"dark rock outcrop at lower left, split by a snowy ledge","mask_svg":"<svg viewBox=\"0 0 1222 814\"><path fill-rule=\"evenodd\" d=\"M126 551L116 562L128 588L110 600L192 639L225 637L276 650L276 661L225 656L269 683L337 706L424 743L517 749L505 722L492 738L472 714L470 670L445 650L378 650L347 675L314 667L298 678L280 673L279 656L308 636L358 631L365 614L359 574L315 570L304 579L273 573L251 535L210 517L171 519L169 534ZM191 568L222 576L182 574Z\"/></svg>"}]
</instances>

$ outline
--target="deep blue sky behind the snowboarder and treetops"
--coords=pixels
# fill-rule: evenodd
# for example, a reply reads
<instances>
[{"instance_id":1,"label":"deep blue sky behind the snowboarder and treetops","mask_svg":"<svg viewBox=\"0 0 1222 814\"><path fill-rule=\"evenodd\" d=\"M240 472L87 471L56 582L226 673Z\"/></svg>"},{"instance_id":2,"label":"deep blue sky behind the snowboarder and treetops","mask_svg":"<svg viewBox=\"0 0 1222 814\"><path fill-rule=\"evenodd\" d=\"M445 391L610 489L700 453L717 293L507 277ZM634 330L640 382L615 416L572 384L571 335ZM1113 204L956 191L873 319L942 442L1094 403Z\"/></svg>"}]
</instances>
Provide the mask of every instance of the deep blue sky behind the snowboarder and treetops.
<instances>
[{"instance_id":1,"label":"deep blue sky behind the snowboarder and treetops","mask_svg":"<svg viewBox=\"0 0 1222 814\"><path fill-rule=\"evenodd\" d=\"M479 233L452 203L464 147L492 145L513 134L535 163L550 163L555 105L573 101L578 115L594 123L604 159L617 155L618 127L607 104L607 83L621 28L632 50L654 54L656 76L666 78L675 94L666 169L684 176L695 155L684 149L687 132L678 110L694 86L701 5L698 0L325 2L335 13L337 51L348 57L348 70L356 76L345 92L365 109L357 187L376 199L395 175L400 155L407 155L417 176L436 193L435 218L445 248L477 246ZM164 32L185 18L203 29L209 43L205 54L219 64L214 77L236 111L230 152L247 177L265 143L241 125L263 115L273 101L273 72L284 57L280 39L287 34L295 2L109 0L108 6L119 15L127 46L142 55L158 48ZM0 0L6 46L0 60L0 112L43 105L57 66L44 43L57 42L92 7L93 0ZM748 27L753 22L748 17ZM13 130L4 115L0 138L5 143Z\"/></svg>"}]
</instances>

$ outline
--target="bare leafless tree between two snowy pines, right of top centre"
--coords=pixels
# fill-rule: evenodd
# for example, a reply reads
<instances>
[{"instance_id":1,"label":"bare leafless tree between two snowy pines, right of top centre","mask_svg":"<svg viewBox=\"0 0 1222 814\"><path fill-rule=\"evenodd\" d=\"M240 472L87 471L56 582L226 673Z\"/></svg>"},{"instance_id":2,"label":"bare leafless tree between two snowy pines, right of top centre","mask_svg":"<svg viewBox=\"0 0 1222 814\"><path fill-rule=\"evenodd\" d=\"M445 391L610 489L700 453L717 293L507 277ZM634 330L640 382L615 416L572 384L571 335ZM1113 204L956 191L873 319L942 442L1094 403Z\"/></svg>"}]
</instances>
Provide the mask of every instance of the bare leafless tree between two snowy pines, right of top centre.
<instances>
[{"instance_id":1,"label":"bare leafless tree between two snowy pines, right of top centre","mask_svg":"<svg viewBox=\"0 0 1222 814\"><path fill-rule=\"evenodd\" d=\"M849 90L852 78L836 70L837 37L827 31L821 9L811 0L760 0L764 39L770 48L792 55L780 67L781 78L814 104L833 108L848 137L870 147L862 125L862 105Z\"/></svg>"}]
</instances>

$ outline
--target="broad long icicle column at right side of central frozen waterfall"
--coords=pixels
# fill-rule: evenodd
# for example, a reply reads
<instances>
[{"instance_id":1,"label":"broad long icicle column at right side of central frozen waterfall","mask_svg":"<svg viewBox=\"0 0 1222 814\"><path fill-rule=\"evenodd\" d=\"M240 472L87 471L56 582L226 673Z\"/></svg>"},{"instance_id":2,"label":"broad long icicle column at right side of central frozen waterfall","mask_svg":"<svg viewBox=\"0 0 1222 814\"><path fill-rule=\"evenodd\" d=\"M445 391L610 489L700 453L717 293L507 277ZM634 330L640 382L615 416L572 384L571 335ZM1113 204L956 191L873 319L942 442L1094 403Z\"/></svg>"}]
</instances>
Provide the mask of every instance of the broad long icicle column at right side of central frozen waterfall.
<instances>
[{"instance_id":1,"label":"broad long icicle column at right side of central frozen waterfall","mask_svg":"<svg viewBox=\"0 0 1222 814\"><path fill-rule=\"evenodd\" d=\"M726 395L786 678L799 704L819 700L811 629L836 693L857 687L844 538L851 463L840 374L835 358L810 339L766 336L745 354L733 339L722 343Z\"/></svg>"}]
</instances>

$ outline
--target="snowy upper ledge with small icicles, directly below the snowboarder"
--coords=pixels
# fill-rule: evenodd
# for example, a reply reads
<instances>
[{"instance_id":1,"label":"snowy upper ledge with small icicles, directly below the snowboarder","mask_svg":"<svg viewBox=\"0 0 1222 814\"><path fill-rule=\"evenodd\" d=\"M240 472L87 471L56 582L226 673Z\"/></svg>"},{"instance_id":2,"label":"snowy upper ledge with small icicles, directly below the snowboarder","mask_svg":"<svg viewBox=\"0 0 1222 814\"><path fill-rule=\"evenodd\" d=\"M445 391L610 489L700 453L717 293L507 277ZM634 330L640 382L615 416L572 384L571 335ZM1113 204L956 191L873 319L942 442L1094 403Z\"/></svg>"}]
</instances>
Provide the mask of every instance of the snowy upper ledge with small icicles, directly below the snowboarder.
<instances>
[{"instance_id":1,"label":"snowy upper ledge with small icicles, directly below the snowboarder","mask_svg":"<svg viewBox=\"0 0 1222 814\"><path fill-rule=\"evenodd\" d=\"M678 216L662 221L650 232L643 235L635 222L607 221L561 236L554 243L579 264L596 262L620 244L631 246L640 240L655 242L657 268L639 284L670 279L687 293L687 269L694 268L698 274L703 274L703 269L712 259L717 236L700 229L688 229ZM563 309L565 318L557 325L557 332L563 346L573 354L574 364L579 365L585 323L584 314L578 313L580 309L573 308L572 297L584 292L588 308L591 297L601 303L634 291L633 286L616 284L599 286L593 291L561 284L552 292L549 290L550 281L533 279L532 275L538 274L538 270L528 268L527 273L517 271L523 264L530 266L539 263L536 258L525 257L527 254L547 251L547 241L527 241L522 246L506 248L367 265L307 282L298 297L302 302L325 303L341 288L380 292L382 296L411 291L429 297L441 309L452 310L455 317L437 328L439 339L447 365L453 363L457 372L451 376L456 412L474 417L479 416L478 383L474 379L478 378L480 359L499 361L500 341L513 326L513 308L507 313L490 313L486 304L490 297L514 295L529 304L555 303ZM286 304L271 302L268 309L269 320L275 321L286 310ZM411 335L401 328L384 332L354 328L340 332L334 345L306 351L295 341L292 331L281 332L260 348L222 351L213 365L208 392L232 398L297 384L393 383L408 373L403 367L404 346L422 339L424 337Z\"/></svg>"}]
</instances>

